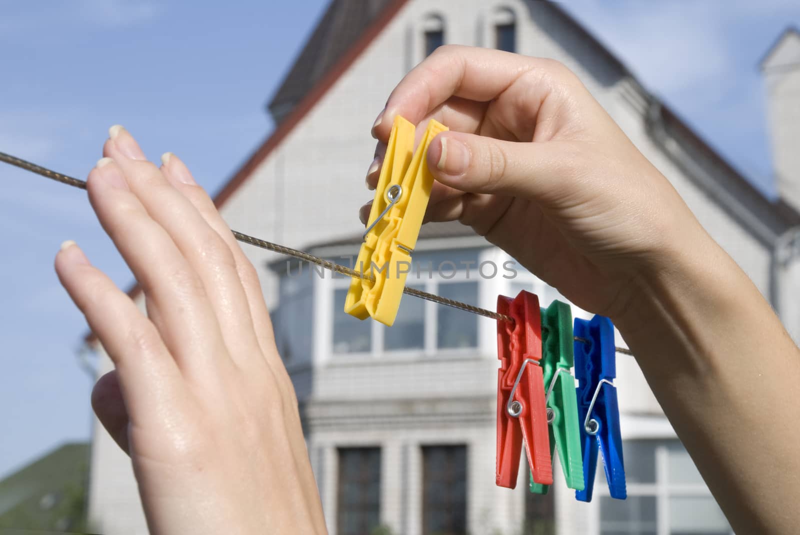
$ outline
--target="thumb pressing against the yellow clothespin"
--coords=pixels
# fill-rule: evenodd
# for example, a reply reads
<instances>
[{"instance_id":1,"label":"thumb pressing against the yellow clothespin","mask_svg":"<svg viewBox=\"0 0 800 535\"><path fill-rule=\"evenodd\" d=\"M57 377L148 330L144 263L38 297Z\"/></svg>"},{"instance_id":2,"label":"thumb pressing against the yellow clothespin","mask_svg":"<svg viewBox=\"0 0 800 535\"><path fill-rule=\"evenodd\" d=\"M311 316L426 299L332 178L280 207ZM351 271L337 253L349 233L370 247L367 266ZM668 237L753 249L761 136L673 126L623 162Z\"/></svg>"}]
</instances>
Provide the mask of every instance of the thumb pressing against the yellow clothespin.
<instances>
[{"instance_id":1,"label":"thumb pressing against the yellow clothespin","mask_svg":"<svg viewBox=\"0 0 800 535\"><path fill-rule=\"evenodd\" d=\"M556 186L563 193L575 161L567 142L506 142L443 132L428 147L428 167L438 182L469 193L532 200L546 200Z\"/></svg>"}]
</instances>

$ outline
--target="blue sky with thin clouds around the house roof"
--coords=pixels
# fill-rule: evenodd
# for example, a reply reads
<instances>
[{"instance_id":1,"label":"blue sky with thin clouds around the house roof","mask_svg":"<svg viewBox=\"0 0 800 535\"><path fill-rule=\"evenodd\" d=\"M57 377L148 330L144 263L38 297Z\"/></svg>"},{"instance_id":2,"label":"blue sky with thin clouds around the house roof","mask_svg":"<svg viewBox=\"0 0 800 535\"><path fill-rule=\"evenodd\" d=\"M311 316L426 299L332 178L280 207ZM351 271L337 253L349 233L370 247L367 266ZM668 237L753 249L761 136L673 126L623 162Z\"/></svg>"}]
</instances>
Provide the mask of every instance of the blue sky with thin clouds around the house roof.
<instances>
[{"instance_id":1,"label":"blue sky with thin clouds around the house roof","mask_svg":"<svg viewBox=\"0 0 800 535\"><path fill-rule=\"evenodd\" d=\"M198 182L218 190L269 134L266 100L325 4L0 2L0 150L85 178L108 127L120 123L150 158L171 150ZM786 26L800 26L800 3L573 0L566 6L772 194L756 65ZM370 158L365 154L365 166ZM62 441L90 434L92 381L75 357L86 324L55 277L59 244L76 240L123 288L132 279L84 192L2 164L0 186L2 477Z\"/></svg>"}]
</instances>

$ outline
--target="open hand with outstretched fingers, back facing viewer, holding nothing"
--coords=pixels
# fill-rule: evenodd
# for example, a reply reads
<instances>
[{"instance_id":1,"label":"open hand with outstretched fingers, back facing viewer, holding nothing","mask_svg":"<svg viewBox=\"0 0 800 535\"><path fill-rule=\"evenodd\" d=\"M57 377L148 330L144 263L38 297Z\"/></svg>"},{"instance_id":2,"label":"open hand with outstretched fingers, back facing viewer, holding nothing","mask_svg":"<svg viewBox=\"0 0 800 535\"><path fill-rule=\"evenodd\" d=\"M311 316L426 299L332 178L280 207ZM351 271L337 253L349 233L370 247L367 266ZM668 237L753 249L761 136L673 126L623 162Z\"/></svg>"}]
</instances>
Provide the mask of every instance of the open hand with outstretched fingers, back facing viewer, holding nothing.
<instances>
[{"instance_id":1,"label":"open hand with outstretched fingers, back facing viewer, holding nothing","mask_svg":"<svg viewBox=\"0 0 800 535\"><path fill-rule=\"evenodd\" d=\"M65 242L58 277L116 369L92 397L151 533L325 533L297 400L253 266L169 153L110 130L89 198L147 315Z\"/></svg>"}]
</instances>

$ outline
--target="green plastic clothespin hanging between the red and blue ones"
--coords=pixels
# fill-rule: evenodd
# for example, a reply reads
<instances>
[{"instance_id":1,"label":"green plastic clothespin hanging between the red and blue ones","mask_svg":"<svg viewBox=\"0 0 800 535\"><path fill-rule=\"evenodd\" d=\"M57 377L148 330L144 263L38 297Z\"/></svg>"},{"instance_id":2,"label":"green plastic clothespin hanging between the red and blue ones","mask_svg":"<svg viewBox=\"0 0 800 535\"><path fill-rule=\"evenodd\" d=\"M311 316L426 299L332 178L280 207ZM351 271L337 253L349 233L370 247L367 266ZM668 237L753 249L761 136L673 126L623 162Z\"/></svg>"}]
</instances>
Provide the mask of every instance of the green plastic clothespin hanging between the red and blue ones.
<instances>
[{"instance_id":1,"label":"green plastic clothespin hanging between the red and blue ones","mask_svg":"<svg viewBox=\"0 0 800 535\"><path fill-rule=\"evenodd\" d=\"M574 365L572 310L561 301L542 309L542 371L544 372L547 421L550 422L550 457L558 449L558 460L570 489L583 490L583 455L578 422ZM530 480L530 492L546 494L550 485Z\"/></svg>"}]
</instances>

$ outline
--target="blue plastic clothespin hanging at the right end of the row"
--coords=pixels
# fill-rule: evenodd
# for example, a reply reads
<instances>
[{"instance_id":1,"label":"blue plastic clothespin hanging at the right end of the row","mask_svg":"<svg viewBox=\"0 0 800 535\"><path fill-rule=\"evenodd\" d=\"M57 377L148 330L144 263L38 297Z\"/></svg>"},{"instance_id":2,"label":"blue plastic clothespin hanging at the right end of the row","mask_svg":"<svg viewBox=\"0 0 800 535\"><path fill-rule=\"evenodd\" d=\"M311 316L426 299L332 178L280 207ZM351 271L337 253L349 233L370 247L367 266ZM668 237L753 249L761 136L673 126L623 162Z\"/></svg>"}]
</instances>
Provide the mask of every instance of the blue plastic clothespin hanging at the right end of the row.
<instances>
[{"instance_id":1,"label":"blue plastic clothespin hanging at the right end of the row","mask_svg":"<svg viewBox=\"0 0 800 535\"><path fill-rule=\"evenodd\" d=\"M614 377L617 377L614 324L607 317L591 321L575 318L575 378L578 379L578 418L583 446L583 490L580 501L592 501L598 449L602 450L606 481L611 497L624 500L625 467L622 463L622 434ZM586 342L588 341L588 343Z\"/></svg>"}]
</instances>

